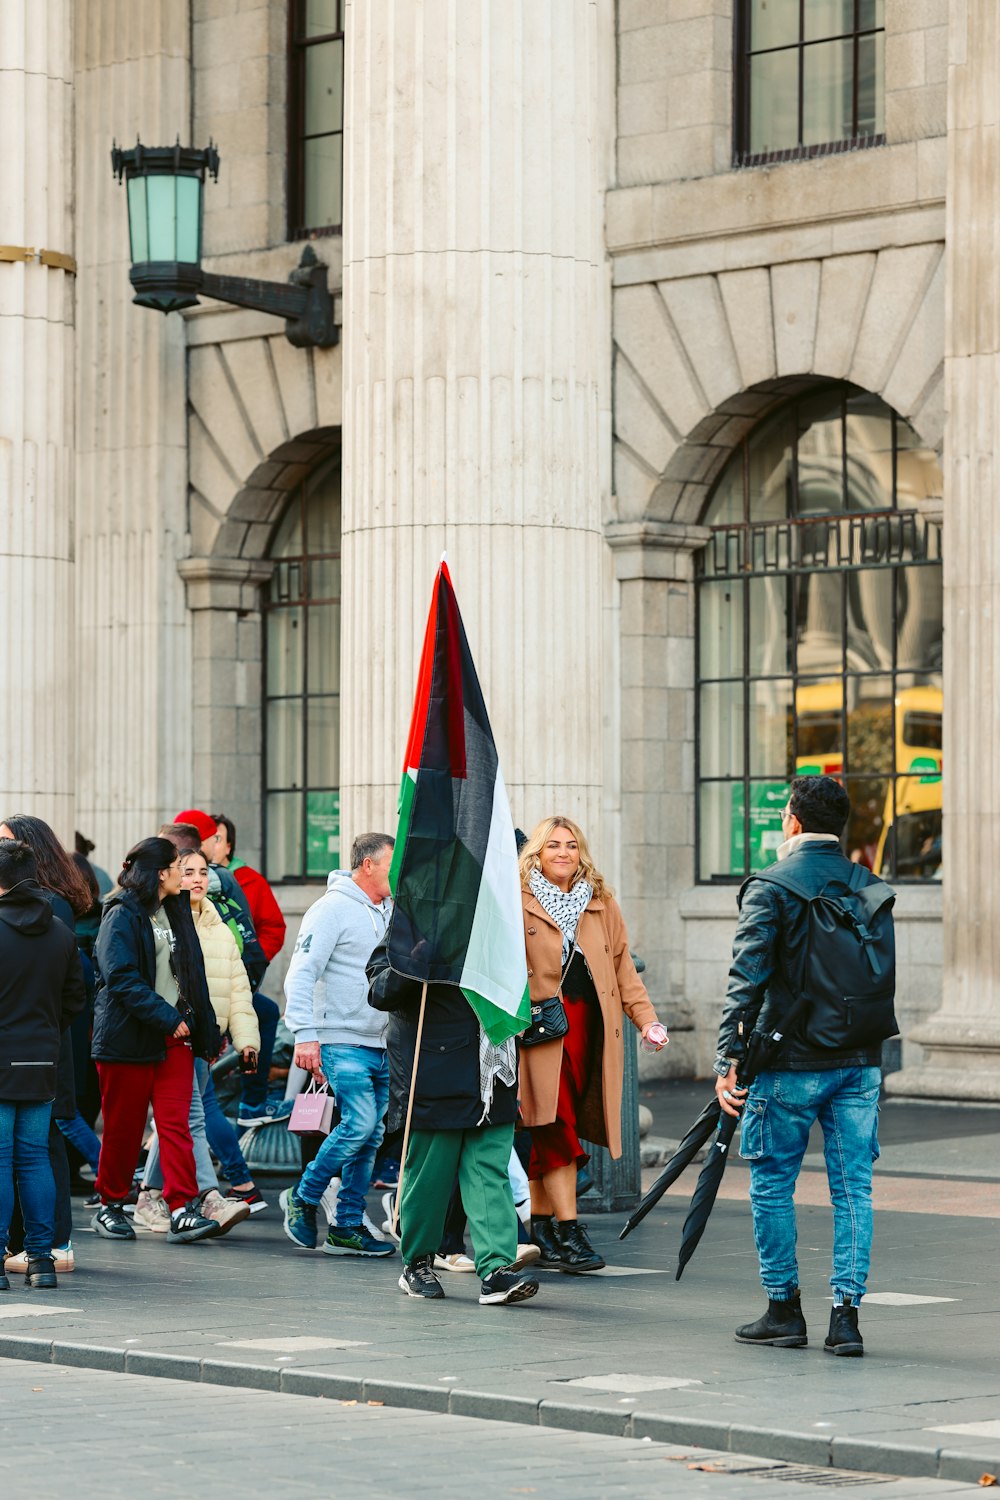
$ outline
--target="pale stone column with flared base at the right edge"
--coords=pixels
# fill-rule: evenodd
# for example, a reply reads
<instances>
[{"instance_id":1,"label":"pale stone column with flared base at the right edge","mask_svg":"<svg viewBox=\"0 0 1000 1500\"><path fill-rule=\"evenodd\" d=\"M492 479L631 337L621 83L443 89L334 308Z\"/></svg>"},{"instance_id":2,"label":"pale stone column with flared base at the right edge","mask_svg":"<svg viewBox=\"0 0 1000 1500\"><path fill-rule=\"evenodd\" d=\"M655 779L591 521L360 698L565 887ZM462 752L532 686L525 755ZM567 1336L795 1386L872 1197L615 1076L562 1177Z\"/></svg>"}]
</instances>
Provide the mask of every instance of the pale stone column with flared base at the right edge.
<instances>
[{"instance_id":1,"label":"pale stone column with flared base at the right edge","mask_svg":"<svg viewBox=\"0 0 1000 1500\"><path fill-rule=\"evenodd\" d=\"M1000 15L952 0L945 333L945 984L894 1094L1000 1100Z\"/></svg>"}]
</instances>

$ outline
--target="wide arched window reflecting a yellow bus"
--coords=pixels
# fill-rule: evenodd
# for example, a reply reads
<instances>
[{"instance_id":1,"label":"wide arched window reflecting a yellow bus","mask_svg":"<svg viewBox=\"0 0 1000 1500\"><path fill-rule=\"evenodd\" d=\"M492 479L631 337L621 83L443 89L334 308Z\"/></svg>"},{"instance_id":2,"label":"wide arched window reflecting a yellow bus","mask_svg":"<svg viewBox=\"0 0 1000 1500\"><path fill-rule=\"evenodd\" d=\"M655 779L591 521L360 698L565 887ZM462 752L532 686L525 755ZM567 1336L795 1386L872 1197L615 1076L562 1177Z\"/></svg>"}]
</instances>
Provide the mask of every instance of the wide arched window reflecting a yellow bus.
<instances>
[{"instance_id":1,"label":"wide arched window reflecting a yellow bus","mask_svg":"<svg viewBox=\"0 0 1000 1500\"><path fill-rule=\"evenodd\" d=\"M853 860L940 878L940 498L934 453L852 386L733 453L699 560L699 879L775 858L796 774L843 778Z\"/></svg>"}]
</instances>

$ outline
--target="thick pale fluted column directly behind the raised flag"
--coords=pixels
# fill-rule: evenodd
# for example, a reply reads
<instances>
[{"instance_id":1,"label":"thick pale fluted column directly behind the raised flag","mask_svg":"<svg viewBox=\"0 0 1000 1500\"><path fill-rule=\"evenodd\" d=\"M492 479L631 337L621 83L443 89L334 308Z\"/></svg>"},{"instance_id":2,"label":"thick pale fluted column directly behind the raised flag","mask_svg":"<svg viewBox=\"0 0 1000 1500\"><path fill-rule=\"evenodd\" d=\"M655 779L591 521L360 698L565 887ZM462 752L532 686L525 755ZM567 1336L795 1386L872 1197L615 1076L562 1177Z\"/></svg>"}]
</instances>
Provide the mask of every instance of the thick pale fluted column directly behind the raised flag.
<instances>
[{"instance_id":1,"label":"thick pale fluted column directly behind the raised flag","mask_svg":"<svg viewBox=\"0 0 1000 1500\"><path fill-rule=\"evenodd\" d=\"M348 0L345 848L396 825L445 549L514 819L600 826L604 9Z\"/></svg>"}]
</instances>

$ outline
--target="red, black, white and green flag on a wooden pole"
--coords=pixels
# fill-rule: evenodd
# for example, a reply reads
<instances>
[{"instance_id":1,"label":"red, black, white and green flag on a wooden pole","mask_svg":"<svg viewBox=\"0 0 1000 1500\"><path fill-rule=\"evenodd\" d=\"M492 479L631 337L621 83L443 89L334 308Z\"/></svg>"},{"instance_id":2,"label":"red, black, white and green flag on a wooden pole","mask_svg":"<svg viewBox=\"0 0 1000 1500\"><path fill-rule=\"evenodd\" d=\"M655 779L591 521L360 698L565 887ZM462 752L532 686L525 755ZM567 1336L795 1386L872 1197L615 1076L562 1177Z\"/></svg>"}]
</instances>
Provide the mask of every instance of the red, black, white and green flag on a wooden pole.
<instances>
[{"instance_id":1,"label":"red, black, white and green flag on a wooden pole","mask_svg":"<svg viewBox=\"0 0 1000 1500\"><path fill-rule=\"evenodd\" d=\"M454 984L492 1042L531 1020L514 825L448 566L435 579L388 874L388 962Z\"/></svg>"}]
</instances>

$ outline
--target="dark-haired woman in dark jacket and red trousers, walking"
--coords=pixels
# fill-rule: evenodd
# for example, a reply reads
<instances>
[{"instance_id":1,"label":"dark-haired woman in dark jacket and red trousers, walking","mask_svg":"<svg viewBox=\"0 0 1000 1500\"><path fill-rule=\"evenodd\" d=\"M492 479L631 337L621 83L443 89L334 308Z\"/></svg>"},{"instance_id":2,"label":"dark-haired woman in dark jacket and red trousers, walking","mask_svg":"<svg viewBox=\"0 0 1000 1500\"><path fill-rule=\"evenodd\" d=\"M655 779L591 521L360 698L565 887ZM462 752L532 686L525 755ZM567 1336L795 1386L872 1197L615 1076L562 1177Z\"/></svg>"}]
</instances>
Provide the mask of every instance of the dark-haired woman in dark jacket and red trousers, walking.
<instances>
[{"instance_id":1,"label":"dark-haired woman in dark jacket and red trousers, walking","mask_svg":"<svg viewBox=\"0 0 1000 1500\"><path fill-rule=\"evenodd\" d=\"M132 1188L150 1102L171 1209L168 1240L219 1233L216 1220L198 1209L187 1116L195 1054L214 1058L220 1038L181 880L180 855L169 838L135 844L124 856L117 894L105 903L94 944L93 1056L103 1142L97 1173L102 1206L91 1222L105 1239L135 1239L121 1204Z\"/></svg>"}]
</instances>

